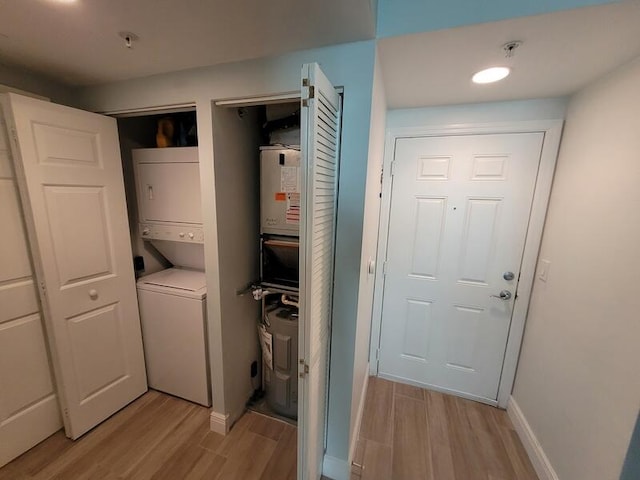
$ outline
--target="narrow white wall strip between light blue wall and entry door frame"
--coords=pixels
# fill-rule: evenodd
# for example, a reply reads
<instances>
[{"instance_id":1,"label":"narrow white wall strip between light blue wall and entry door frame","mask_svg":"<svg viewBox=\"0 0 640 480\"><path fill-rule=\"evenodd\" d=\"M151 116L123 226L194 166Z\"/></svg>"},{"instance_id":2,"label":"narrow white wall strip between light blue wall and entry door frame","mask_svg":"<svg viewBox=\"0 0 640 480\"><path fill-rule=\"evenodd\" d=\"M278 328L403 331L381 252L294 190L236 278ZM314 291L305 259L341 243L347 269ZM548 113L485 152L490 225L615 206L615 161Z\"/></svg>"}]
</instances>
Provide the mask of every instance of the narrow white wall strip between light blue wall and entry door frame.
<instances>
[{"instance_id":1,"label":"narrow white wall strip between light blue wall and entry door frame","mask_svg":"<svg viewBox=\"0 0 640 480\"><path fill-rule=\"evenodd\" d=\"M353 391L351 393L351 439L350 458L353 457L360 417L364 407L365 385L369 375L369 339L371 334L371 312L375 276L368 271L370 261L376 259L378 251L378 220L380 217L380 174L384 156L384 135L387 105L382 81L380 61L376 54L371 97L371 130L369 133L369 164L367 166L367 186L364 205L364 225L362 228L362 254L360 258L360 292L358 294L358 317L356 325L356 345L353 361ZM336 368L338 368L336 366Z\"/></svg>"}]
</instances>

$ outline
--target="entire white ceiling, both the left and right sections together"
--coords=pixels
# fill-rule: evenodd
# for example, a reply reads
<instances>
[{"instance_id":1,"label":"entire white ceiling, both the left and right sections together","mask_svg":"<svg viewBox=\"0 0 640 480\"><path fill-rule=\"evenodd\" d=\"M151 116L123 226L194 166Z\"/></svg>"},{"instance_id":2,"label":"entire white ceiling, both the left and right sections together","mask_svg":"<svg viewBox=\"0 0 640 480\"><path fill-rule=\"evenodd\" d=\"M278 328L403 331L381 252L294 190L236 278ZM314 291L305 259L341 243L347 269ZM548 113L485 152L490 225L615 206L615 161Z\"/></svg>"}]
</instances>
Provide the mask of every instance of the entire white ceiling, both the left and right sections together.
<instances>
[{"instance_id":1,"label":"entire white ceiling, both the left and right sections together","mask_svg":"<svg viewBox=\"0 0 640 480\"><path fill-rule=\"evenodd\" d=\"M371 0L0 0L0 62L90 85L373 38ZM140 37L127 49L118 32ZM524 42L507 61L501 46ZM574 93L640 55L640 0L379 40L390 108ZM511 63L505 81L471 75Z\"/></svg>"}]
</instances>

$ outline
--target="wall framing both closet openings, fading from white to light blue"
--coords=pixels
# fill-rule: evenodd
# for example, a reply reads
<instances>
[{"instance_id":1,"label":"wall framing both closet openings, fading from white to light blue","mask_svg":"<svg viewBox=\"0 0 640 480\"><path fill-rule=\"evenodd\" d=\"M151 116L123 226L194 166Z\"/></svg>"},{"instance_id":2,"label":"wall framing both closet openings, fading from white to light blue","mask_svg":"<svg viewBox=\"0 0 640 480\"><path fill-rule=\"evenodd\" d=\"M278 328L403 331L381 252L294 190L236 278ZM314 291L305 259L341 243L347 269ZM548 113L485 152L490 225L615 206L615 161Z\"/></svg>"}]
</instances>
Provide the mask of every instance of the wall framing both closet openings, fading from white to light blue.
<instances>
[{"instance_id":1,"label":"wall framing both closet openings, fading from white to light blue","mask_svg":"<svg viewBox=\"0 0 640 480\"><path fill-rule=\"evenodd\" d=\"M218 272L218 237L211 100L300 91L305 62L318 62L329 79L344 88L342 150L338 196L335 294L332 329L327 455L343 460L349 452L353 363L364 194L369 147L369 122L375 44L358 42L307 50L279 57L205 67L166 75L87 87L78 101L93 111L144 109L159 105L195 103L198 115L200 173L205 231L205 262L209 339L214 385L233 381L222 372L222 321ZM214 132L215 133L215 132ZM230 413L224 396L214 389L213 408Z\"/></svg>"}]
</instances>

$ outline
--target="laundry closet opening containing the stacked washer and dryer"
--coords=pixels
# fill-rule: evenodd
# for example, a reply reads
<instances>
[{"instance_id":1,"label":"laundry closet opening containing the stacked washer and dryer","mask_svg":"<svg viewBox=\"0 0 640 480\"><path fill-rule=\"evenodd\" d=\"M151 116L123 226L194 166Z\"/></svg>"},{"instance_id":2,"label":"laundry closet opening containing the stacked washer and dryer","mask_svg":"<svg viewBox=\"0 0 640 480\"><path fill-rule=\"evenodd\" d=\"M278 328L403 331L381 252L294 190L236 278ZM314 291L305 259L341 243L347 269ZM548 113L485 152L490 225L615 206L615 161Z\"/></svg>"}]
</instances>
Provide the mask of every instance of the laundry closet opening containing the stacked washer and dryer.
<instances>
[{"instance_id":1,"label":"laundry closet opening containing the stacked washer and dryer","mask_svg":"<svg viewBox=\"0 0 640 480\"><path fill-rule=\"evenodd\" d=\"M211 406L194 107L117 118L149 388Z\"/></svg>"}]
</instances>

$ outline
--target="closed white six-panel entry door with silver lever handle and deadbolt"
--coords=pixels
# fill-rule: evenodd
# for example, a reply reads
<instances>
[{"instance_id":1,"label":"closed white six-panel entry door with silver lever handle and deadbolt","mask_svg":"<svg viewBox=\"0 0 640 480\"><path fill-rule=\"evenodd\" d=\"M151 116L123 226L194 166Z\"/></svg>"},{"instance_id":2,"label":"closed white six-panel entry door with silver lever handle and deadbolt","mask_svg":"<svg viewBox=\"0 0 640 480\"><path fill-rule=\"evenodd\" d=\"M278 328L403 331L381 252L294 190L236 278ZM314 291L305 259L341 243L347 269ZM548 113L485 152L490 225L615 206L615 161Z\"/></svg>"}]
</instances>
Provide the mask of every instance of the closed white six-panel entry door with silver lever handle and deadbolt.
<instances>
[{"instance_id":1,"label":"closed white six-panel entry door with silver lever handle and deadbolt","mask_svg":"<svg viewBox=\"0 0 640 480\"><path fill-rule=\"evenodd\" d=\"M397 140L381 375L495 403L543 137Z\"/></svg>"}]
</instances>

